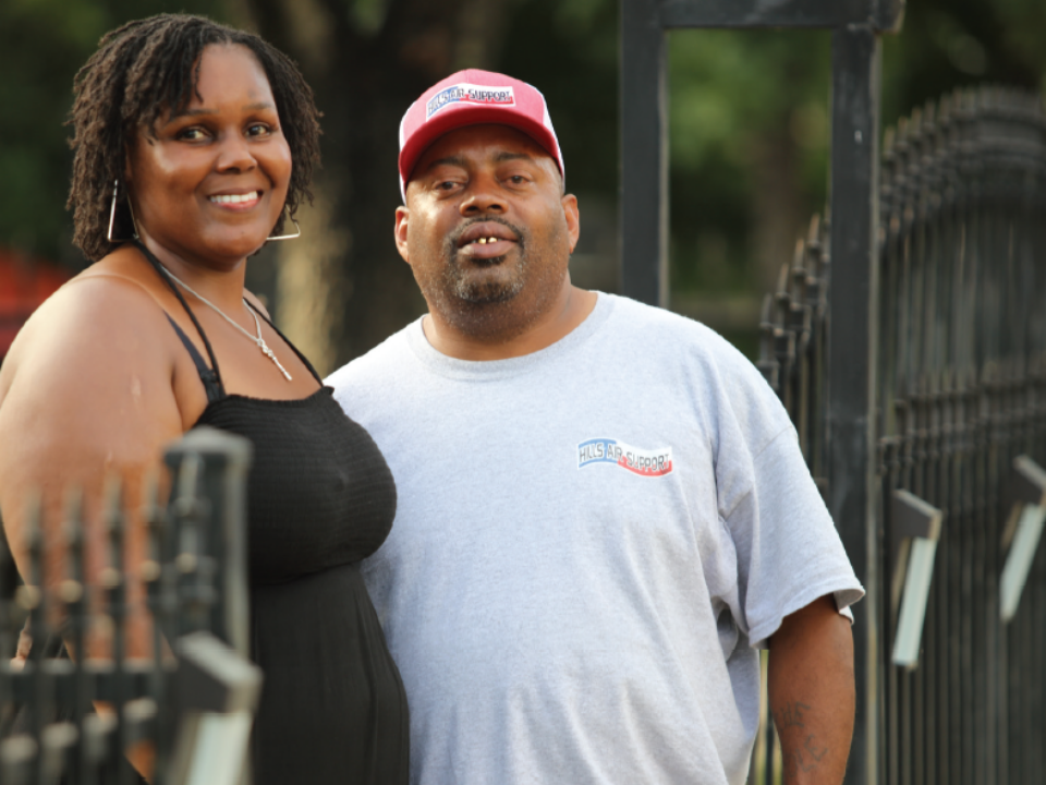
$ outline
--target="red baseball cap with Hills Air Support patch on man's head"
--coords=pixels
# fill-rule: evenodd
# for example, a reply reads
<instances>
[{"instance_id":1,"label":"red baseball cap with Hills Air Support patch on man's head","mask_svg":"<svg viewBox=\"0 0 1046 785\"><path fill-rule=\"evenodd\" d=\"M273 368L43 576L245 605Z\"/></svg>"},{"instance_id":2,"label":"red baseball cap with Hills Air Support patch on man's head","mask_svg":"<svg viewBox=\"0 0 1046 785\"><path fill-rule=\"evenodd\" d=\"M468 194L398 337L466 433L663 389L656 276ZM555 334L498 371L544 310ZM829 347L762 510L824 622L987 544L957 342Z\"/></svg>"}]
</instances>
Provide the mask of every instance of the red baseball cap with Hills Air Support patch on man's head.
<instances>
[{"instance_id":1,"label":"red baseball cap with Hills Air Support patch on man's head","mask_svg":"<svg viewBox=\"0 0 1046 785\"><path fill-rule=\"evenodd\" d=\"M565 176L563 154L548 116L545 96L526 82L504 74L469 69L429 87L400 121L400 193L414 165L440 136L465 125L494 123L522 131L544 147Z\"/></svg>"}]
</instances>

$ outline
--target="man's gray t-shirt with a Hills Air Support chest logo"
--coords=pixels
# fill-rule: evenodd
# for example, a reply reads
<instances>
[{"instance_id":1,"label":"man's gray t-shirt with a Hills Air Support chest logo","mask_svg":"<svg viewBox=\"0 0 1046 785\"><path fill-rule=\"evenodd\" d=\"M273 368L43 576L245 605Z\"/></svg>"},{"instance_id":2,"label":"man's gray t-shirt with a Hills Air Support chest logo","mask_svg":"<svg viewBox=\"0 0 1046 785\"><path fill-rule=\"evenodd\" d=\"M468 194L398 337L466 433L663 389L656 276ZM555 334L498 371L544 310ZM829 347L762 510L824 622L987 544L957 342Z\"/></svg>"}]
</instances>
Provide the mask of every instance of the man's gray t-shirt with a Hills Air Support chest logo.
<instances>
[{"instance_id":1,"label":"man's gray t-shirt with a Hills Air Support chest logo","mask_svg":"<svg viewBox=\"0 0 1046 785\"><path fill-rule=\"evenodd\" d=\"M863 594L747 360L600 294L526 357L448 358L418 321L328 382L397 482L364 577L413 783L744 782L755 648Z\"/></svg>"}]
</instances>

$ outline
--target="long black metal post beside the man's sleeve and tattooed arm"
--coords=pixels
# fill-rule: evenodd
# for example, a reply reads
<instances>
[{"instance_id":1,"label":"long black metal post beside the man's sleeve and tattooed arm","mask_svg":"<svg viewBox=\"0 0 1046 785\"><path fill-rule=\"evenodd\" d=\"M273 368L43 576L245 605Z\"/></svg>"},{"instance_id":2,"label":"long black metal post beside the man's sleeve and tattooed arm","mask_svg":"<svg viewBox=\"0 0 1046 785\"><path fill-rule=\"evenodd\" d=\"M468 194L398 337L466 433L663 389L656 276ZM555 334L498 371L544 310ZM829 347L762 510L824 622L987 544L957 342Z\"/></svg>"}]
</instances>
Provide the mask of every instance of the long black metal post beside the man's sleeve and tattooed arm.
<instances>
[{"instance_id":1,"label":"long black metal post beside the man's sleeve and tattooed arm","mask_svg":"<svg viewBox=\"0 0 1046 785\"><path fill-rule=\"evenodd\" d=\"M878 317L880 44L866 25L832 33L828 508L867 590L855 611L858 712L847 783L878 782L878 533L875 363Z\"/></svg>"}]
</instances>

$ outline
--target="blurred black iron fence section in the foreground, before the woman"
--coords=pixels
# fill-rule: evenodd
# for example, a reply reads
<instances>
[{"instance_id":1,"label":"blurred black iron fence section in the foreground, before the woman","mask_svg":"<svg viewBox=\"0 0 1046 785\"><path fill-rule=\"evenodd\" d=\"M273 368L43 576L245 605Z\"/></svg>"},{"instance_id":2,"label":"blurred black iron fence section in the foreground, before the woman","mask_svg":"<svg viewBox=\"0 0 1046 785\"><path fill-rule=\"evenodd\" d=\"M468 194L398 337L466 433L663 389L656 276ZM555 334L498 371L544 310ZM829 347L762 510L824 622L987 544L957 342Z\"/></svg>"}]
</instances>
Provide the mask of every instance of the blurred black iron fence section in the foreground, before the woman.
<instances>
[{"instance_id":1,"label":"blurred black iron fence section in the foreground, before the woman","mask_svg":"<svg viewBox=\"0 0 1046 785\"><path fill-rule=\"evenodd\" d=\"M39 511L28 514L24 582L0 554L2 785L138 783L129 763L135 749L154 757L154 785L250 781L245 753L262 678L246 657L250 456L246 440L204 428L167 451L170 503L157 505L155 486L146 494L148 556L135 566L153 619L147 661L127 656L132 581L119 484L105 494L101 531L85 526L74 492L61 542L45 541ZM96 535L107 558L88 581L87 540ZM45 575L52 548L63 554L61 576ZM110 656L88 659L85 641L98 633ZM20 635L33 641L24 666L10 660Z\"/></svg>"}]
</instances>

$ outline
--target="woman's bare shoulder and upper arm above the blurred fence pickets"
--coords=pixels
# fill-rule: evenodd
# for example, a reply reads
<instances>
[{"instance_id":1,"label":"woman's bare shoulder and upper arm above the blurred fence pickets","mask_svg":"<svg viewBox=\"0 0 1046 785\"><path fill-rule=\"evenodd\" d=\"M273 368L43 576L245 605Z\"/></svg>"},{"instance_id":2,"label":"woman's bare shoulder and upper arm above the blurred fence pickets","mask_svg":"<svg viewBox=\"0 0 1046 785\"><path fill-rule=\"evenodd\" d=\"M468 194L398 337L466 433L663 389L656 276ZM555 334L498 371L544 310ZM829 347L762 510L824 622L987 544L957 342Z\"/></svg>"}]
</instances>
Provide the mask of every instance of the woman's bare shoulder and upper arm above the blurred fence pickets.
<instances>
[{"instance_id":1,"label":"woman's bare shoulder and upper arm above the blurred fence pickets","mask_svg":"<svg viewBox=\"0 0 1046 785\"><path fill-rule=\"evenodd\" d=\"M26 488L56 509L68 483L98 488L109 471L137 482L183 432L166 322L147 286L102 265L20 331L0 367L0 504L16 552Z\"/></svg>"}]
</instances>

